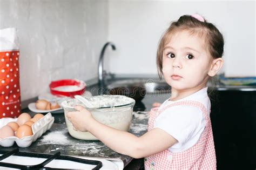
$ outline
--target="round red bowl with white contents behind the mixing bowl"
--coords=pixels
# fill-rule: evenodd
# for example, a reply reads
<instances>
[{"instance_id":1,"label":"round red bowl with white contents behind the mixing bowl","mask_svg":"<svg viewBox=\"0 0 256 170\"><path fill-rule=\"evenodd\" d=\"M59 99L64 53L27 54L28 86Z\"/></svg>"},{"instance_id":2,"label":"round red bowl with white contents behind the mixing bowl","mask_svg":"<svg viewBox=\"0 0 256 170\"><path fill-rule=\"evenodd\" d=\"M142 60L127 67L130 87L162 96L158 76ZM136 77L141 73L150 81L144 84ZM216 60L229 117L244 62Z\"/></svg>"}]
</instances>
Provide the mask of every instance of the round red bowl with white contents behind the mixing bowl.
<instances>
[{"instance_id":1,"label":"round red bowl with white contents behind the mixing bowl","mask_svg":"<svg viewBox=\"0 0 256 170\"><path fill-rule=\"evenodd\" d=\"M49 87L50 92L53 95L68 96L73 98L75 95L81 95L84 93L86 84L82 80L62 79L57 81L51 81ZM59 89L57 89L56 87L59 87Z\"/></svg>"}]
</instances>

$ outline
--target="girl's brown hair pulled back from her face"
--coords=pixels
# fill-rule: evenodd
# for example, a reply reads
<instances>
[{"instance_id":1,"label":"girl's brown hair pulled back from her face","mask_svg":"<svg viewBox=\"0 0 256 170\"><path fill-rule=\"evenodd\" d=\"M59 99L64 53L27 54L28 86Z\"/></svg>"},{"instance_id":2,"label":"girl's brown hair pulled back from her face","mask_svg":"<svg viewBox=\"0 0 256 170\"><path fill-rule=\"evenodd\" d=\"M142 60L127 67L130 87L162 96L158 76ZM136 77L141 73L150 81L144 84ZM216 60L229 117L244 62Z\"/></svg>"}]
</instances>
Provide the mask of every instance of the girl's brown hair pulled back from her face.
<instances>
[{"instance_id":1,"label":"girl's brown hair pulled back from her face","mask_svg":"<svg viewBox=\"0 0 256 170\"><path fill-rule=\"evenodd\" d=\"M176 31L187 30L191 34L198 34L199 36L205 36L205 43L211 56L220 58L223 56L224 39L220 31L212 24L201 22L198 19L190 16L181 16L177 22L172 22L169 28L164 32L160 39L158 50L157 50L157 69L158 75L161 78L163 75L163 51L165 45L170 41L171 36Z\"/></svg>"}]
</instances>

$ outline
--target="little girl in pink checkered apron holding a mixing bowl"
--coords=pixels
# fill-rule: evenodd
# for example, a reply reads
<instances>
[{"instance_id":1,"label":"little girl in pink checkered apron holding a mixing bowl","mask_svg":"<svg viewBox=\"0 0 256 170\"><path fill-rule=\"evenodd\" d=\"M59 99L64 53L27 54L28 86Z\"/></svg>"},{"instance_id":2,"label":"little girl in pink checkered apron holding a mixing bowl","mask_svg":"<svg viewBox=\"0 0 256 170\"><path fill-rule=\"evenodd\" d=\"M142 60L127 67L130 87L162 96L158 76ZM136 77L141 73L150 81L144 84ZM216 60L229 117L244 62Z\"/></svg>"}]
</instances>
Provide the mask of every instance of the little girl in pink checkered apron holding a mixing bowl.
<instances>
[{"instance_id":1,"label":"little girl in pink checkered apron holding a mixing bowl","mask_svg":"<svg viewBox=\"0 0 256 170\"><path fill-rule=\"evenodd\" d=\"M145 157L145 169L216 169L207 81L223 65L223 36L198 14L181 16L161 37L159 76L171 97L150 111L141 137L99 123L82 106L67 114L74 128L89 131L114 151Z\"/></svg>"}]
</instances>

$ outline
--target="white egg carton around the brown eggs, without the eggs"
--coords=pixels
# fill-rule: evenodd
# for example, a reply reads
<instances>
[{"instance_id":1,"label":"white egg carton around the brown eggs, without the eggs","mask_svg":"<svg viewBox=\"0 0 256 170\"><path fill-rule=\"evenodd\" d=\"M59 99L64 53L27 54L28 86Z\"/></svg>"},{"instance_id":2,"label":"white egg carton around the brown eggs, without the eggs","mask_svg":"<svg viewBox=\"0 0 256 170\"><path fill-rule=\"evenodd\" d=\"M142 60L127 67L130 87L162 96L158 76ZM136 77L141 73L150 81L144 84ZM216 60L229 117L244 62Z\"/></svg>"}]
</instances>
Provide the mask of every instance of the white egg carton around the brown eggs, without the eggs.
<instances>
[{"instance_id":1,"label":"white egg carton around the brown eggs, without the eggs","mask_svg":"<svg viewBox=\"0 0 256 170\"><path fill-rule=\"evenodd\" d=\"M0 119L0 128L8 124L10 121L17 121L17 118ZM19 147L28 147L32 144L32 142L36 141L37 138L40 138L43 133L45 133L47 130L51 128L53 121L54 121L54 117L52 117L51 113L49 112L32 125L33 135L30 135L28 137L23 137L21 139L17 137L8 137L8 138L0 139L0 146L10 147L14 145L14 142L16 142L16 144Z\"/></svg>"}]
</instances>

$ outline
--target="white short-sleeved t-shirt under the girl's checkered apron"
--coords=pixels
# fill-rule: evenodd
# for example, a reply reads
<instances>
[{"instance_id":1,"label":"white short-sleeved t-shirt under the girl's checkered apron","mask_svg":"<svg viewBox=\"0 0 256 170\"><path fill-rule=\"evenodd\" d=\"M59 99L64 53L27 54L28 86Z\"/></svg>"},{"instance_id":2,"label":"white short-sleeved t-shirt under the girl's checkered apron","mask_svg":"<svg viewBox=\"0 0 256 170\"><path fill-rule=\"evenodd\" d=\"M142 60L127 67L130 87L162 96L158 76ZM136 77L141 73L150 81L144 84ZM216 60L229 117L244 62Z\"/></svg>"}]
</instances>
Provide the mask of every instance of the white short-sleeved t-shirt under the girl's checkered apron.
<instances>
[{"instance_id":1,"label":"white short-sleeved t-shirt under the girl's checkered apron","mask_svg":"<svg viewBox=\"0 0 256 170\"><path fill-rule=\"evenodd\" d=\"M211 112L211 102L208 98L207 87L176 101L165 100L159 109L177 103L178 101L193 100L203 104L208 115ZM204 131L206 121L200 108L191 105L180 105L167 108L154 121L154 128L166 131L178 142L169 148L173 153L186 151L194 146Z\"/></svg>"}]
</instances>

